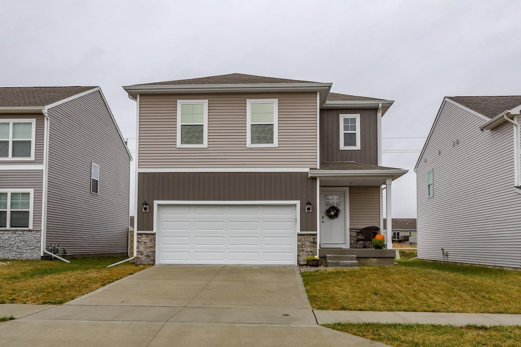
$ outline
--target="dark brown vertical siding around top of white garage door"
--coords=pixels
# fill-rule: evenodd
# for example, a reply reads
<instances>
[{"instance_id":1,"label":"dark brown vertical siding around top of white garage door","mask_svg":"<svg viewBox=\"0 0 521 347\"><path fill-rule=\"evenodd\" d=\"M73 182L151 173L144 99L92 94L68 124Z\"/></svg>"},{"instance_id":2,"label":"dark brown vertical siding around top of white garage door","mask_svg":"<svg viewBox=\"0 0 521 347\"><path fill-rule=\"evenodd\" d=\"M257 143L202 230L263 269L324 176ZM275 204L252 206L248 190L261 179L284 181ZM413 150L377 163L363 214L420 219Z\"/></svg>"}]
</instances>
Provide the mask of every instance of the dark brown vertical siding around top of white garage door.
<instances>
[{"instance_id":1,"label":"dark brown vertical siding around top of white garage door","mask_svg":"<svg viewBox=\"0 0 521 347\"><path fill-rule=\"evenodd\" d=\"M306 172L190 172L139 173L138 201L149 211L138 211L138 230L152 231L154 200L300 200L300 230L316 232L315 212L304 212L317 201L316 179Z\"/></svg>"}]
</instances>

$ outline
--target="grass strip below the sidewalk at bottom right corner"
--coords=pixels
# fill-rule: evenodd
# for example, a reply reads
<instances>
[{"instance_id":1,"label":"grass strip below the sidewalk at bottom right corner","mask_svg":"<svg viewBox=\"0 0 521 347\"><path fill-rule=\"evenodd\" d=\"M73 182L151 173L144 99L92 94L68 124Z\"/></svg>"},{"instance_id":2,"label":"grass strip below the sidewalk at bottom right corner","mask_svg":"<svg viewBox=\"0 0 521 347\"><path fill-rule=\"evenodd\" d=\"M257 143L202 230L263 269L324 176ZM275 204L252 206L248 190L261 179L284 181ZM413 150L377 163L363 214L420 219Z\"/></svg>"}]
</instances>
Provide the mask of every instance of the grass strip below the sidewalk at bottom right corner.
<instances>
[{"instance_id":1,"label":"grass strip below the sidewalk at bottom right corner","mask_svg":"<svg viewBox=\"0 0 521 347\"><path fill-rule=\"evenodd\" d=\"M520 326L455 327L430 324L333 323L325 327L399 347L513 347L521 345Z\"/></svg>"}]
</instances>

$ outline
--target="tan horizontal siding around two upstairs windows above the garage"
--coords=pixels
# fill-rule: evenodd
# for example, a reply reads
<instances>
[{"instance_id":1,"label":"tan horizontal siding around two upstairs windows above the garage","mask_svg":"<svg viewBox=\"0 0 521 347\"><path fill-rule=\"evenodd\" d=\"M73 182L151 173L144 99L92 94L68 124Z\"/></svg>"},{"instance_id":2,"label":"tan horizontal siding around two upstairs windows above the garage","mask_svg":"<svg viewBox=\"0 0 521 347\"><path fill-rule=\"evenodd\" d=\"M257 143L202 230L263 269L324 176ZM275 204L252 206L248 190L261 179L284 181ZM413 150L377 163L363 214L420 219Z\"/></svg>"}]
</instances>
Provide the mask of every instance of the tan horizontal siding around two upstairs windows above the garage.
<instances>
[{"instance_id":1,"label":"tan horizontal siding around two upstairs windows above the garage","mask_svg":"<svg viewBox=\"0 0 521 347\"><path fill-rule=\"evenodd\" d=\"M208 148L176 148L177 100L208 100ZM246 100L278 99L278 147L246 148ZM317 94L140 95L139 168L316 168Z\"/></svg>"}]
</instances>

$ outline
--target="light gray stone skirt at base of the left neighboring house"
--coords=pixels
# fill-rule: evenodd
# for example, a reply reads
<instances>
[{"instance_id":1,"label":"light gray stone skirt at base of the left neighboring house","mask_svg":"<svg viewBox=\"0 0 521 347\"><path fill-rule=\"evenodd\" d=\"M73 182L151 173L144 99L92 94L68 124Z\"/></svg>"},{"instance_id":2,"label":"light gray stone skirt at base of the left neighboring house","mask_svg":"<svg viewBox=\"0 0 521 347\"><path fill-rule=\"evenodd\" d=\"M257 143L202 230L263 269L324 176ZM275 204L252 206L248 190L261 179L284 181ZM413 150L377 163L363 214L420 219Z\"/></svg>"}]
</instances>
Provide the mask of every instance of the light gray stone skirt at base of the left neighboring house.
<instances>
[{"instance_id":1,"label":"light gray stone skirt at base of the left neighboring house","mask_svg":"<svg viewBox=\"0 0 521 347\"><path fill-rule=\"evenodd\" d=\"M41 230L1 230L0 259L40 260Z\"/></svg>"}]
</instances>

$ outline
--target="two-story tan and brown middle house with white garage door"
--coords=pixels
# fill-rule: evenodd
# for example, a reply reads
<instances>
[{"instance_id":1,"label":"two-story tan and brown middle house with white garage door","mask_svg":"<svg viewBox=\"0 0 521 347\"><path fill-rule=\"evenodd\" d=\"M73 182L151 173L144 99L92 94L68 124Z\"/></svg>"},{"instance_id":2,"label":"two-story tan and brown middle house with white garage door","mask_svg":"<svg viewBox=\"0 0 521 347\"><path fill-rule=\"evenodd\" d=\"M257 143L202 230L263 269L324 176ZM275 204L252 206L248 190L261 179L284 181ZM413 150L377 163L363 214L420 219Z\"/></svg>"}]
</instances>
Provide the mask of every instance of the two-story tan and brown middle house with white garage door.
<instances>
[{"instance_id":1,"label":"two-story tan and brown middle house with white garage door","mask_svg":"<svg viewBox=\"0 0 521 347\"><path fill-rule=\"evenodd\" d=\"M354 247L382 224L381 185L390 202L407 172L380 166L393 101L238 73L123 88L138 107L138 263L296 265Z\"/></svg>"}]
</instances>

